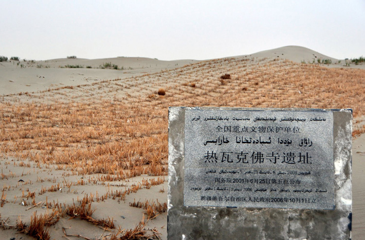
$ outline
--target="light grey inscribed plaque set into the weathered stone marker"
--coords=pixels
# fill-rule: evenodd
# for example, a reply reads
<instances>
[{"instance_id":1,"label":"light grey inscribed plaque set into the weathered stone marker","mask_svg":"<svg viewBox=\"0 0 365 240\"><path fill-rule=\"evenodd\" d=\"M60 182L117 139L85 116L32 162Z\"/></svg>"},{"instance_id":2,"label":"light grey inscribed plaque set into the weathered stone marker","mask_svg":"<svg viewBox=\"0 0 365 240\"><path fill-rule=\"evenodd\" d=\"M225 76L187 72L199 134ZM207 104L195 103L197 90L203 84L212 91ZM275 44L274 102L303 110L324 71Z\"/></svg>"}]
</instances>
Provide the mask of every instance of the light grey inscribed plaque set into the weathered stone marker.
<instances>
[{"instance_id":1,"label":"light grey inscribed plaque set into the weathered stone marker","mask_svg":"<svg viewBox=\"0 0 365 240\"><path fill-rule=\"evenodd\" d=\"M185 111L185 206L334 208L331 111Z\"/></svg>"}]
</instances>

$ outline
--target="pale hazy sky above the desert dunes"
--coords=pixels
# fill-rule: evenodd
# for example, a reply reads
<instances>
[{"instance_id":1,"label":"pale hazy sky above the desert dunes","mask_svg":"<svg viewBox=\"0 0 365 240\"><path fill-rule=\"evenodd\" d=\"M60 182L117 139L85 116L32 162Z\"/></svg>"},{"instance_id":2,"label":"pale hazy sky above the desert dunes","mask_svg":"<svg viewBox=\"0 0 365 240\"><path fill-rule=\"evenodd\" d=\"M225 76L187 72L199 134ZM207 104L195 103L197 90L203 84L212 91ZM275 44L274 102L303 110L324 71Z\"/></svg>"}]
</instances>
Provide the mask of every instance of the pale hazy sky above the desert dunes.
<instances>
[{"instance_id":1,"label":"pale hazy sky above the desert dunes","mask_svg":"<svg viewBox=\"0 0 365 240\"><path fill-rule=\"evenodd\" d=\"M365 0L6 1L0 55L211 59L298 45L365 56Z\"/></svg>"}]
</instances>

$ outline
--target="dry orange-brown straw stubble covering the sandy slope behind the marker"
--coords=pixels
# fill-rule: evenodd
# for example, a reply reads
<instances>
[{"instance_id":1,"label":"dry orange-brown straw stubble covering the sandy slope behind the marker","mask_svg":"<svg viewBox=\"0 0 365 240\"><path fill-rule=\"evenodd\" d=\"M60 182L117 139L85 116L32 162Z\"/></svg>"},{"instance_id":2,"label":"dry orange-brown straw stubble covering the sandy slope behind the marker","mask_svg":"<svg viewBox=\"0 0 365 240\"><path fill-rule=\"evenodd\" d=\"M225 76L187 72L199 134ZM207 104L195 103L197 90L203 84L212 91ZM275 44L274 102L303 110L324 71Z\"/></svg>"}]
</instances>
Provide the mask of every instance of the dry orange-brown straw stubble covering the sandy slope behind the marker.
<instances>
[{"instance_id":1,"label":"dry orange-brown straw stubble covering the sandy slope behind the marker","mask_svg":"<svg viewBox=\"0 0 365 240\"><path fill-rule=\"evenodd\" d=\"M229 77L222 78L227 72ZM163 97L154 94L158 89L164 90ZM85 97L85 93L93 94ZM39 166L64 170L65 175L103 174L88 180L64 181L62 185L58 182L53 188L42 187L28 196L33 200L29 205L34 205L35 195L61 187L67 190L84 181L96 184L140 175L166 175L168 106L352 108L353 135L365 132L360 120L365 115L364 70L287 60L210 60L93 86L28 93L22 95L21 101L18 97L3 97L0 101L0 151L4 157L15 157L17 162L13 164L24 168L29 166L26 161L33 161ZM11 177L11 173L1 175L2 179ZM144 182L95 198L121 201L126 194L150 185L152 182ZM2 202L6 199L3 189ZM130 205L144 208L148 219L158 217L157 213L165 209L149 202ZM94 224L116 227L113 217L91 217L90 199L68 206L66 212ZM46 219L46 215L34 214L31 224L41 229ZM32 231L22 222L18 225L20 231ZM146 234L144 226L143 220L135 229L120 230L120 238L117 233L109 237L142 239ZM43 234L47 239L47 231Z\"/></svg>"}]
</instances>

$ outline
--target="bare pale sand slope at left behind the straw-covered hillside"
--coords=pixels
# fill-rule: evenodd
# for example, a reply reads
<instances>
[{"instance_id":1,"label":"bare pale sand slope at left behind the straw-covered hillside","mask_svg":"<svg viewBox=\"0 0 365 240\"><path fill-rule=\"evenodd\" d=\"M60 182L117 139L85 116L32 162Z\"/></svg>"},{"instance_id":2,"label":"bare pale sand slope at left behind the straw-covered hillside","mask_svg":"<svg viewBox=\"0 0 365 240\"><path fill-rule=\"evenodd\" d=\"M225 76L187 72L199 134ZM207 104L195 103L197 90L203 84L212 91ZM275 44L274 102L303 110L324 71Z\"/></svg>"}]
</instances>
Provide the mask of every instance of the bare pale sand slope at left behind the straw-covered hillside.
<instances>
[{"instance_id":1,"label":"bare pale sand slope at left behind the straw-covered hillside","mask_svg":"<svg viewBox=\"0 0 365 240\"><path fill-rule=\"evenodd\" d=\"M0 62L0 95L92 84L103 79L127 78L178 68L195 62L198 61L160 61L137 57ZM119 70L101 69L105 63L117 65ZM22 67L22 65L24 66ZM79 65L82 68L65 67L67 65ZM86 68L88 66L92 68Z\"/></svg>"}]
</instances>

